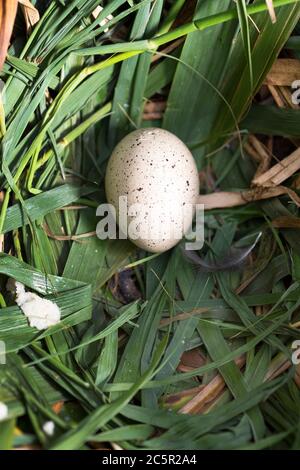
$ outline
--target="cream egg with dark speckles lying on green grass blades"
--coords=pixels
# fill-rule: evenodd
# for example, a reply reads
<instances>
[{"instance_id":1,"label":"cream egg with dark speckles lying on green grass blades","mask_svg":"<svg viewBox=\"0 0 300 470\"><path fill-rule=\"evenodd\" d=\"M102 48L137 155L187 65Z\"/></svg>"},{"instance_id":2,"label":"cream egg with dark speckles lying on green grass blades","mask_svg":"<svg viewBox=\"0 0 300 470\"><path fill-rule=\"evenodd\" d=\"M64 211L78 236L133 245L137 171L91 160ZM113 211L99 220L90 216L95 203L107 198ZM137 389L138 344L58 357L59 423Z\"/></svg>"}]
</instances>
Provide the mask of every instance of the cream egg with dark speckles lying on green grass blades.
<instances>
[{"instance_id":1,"label":"cream egg with dark speckles lying on green grass blades","mask_svg":"<svg viewBox=\"0 0 300 470\"><path fill-rule=\"evenodd\" d=\"M199 177L193 155L178 137L163 129L138 129L115 147L105 188L123 235L156 253L175 246L190 228Z\"/></svg>"}]
</instances>

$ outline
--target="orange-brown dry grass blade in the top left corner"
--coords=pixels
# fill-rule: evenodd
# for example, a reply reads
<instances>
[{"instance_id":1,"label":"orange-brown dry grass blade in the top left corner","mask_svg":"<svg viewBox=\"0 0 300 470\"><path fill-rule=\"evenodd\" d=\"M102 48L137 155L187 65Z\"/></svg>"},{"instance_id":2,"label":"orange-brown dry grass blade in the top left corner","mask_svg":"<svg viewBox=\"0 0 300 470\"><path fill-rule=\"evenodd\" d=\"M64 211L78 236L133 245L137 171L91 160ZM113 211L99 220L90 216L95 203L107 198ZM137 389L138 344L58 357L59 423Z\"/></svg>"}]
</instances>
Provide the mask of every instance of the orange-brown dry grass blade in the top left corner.
<instances>
[{"instance_id":1,"label":"orange-brown dry grass blade in the top left corner","mask_svg":"<svg viewBox=\"0 0 300 470\"><path fill-rule=\"evenodd\" d=\"M5 62L17 13L17 0L0 0L0 70Z\"/></svg>"}]
</instances>

